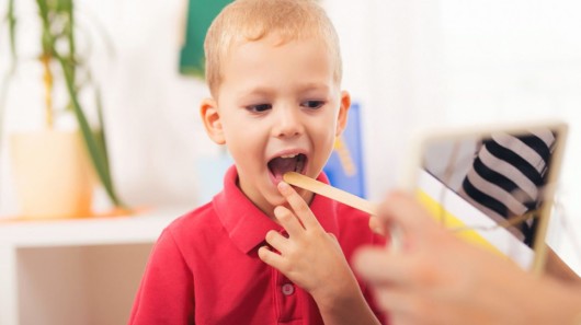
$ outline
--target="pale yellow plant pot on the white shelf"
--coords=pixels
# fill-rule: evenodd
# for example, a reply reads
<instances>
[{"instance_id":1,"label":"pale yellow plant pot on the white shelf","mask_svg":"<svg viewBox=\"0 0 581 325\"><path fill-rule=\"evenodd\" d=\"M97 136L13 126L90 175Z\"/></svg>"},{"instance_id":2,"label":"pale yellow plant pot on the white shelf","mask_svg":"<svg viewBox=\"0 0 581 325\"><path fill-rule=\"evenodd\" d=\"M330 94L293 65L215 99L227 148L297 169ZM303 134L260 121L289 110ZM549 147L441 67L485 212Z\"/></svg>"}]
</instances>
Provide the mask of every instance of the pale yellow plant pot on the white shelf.
<instances>
[{"instance_id":1,"label":"pale yellow plant pot on the white shelf","mask_svg":"<svg viewBox=\"0 0 581 325\"><path fill-rule=\"evenodd\" d=\"M54 219L91 214L93 177L78 131L11 136L12 175L20 213Z\"/></svg>"}]
</instances>

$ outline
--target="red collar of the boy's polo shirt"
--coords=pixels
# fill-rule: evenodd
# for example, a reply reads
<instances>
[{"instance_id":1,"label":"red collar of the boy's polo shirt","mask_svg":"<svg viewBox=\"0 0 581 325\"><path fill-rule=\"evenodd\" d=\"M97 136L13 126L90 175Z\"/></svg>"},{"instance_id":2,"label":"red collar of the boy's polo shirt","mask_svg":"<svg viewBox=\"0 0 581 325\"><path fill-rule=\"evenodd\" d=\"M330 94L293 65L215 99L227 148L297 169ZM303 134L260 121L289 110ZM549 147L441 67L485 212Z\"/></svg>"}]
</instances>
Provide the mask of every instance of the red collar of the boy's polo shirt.
<instances>
[{"instance_id":1,"label":"red collar of the boy's polo shirt","mask_svg":"<svg viewBox=\"0 0 581 325\"><path fill-rule=\"evenodd\" d=\"M236 185L238 171L232 165L224 177L224 189L213 199L214 209L226 232L235 245L248 254L250 251L264 243L266 232L270 230L282 231L283 228L272 221L262 212ZM327 176L321 173L318 181L329 184ZM338 235L337 202L326 197L315 195L310 204L312 213L322 228Z\"/></svg>"}]
</instances>

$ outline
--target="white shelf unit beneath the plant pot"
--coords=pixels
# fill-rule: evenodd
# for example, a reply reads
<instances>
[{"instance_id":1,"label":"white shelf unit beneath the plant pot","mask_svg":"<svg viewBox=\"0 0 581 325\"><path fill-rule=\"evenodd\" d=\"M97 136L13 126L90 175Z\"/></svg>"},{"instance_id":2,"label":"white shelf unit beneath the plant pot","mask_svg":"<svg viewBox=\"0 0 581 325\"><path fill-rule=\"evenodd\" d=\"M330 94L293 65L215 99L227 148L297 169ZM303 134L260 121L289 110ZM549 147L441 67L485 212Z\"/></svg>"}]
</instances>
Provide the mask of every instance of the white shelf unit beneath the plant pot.
<instances>
[{"instance_id":1,"label":"white shelf unit beneath the plant pot","mask_svg":"<svg viewBox=\"0 0 581 325\"><path fill-rule=\"evenodd\" d=\"M0 221L0 324L126 324L151 246L190 209Z\"/></svg>"}]
</instances>

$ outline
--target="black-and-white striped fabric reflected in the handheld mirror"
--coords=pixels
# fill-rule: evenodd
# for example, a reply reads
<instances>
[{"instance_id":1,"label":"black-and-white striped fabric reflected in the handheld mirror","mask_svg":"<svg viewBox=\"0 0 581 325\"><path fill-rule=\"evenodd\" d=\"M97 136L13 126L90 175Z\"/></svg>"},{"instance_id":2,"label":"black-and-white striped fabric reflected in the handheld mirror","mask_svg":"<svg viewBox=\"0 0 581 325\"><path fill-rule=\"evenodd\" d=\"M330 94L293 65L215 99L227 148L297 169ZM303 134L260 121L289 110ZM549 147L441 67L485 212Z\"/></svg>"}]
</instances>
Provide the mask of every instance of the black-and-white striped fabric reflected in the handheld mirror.
<instances>
[{"instance_id":1,"label":"black-and-white striped fabric reflected in the handheld mirror","mask_svg":"<svg viewBox=\"0 0 581 325\"><path fill-rule=\"evenodd\" d=\"M460 196L495 220L522 216L543 201L555 135L546 130L485 140L459 190ZM536 222L511 229L532 244Z\"/></svg>"}]
</instances>

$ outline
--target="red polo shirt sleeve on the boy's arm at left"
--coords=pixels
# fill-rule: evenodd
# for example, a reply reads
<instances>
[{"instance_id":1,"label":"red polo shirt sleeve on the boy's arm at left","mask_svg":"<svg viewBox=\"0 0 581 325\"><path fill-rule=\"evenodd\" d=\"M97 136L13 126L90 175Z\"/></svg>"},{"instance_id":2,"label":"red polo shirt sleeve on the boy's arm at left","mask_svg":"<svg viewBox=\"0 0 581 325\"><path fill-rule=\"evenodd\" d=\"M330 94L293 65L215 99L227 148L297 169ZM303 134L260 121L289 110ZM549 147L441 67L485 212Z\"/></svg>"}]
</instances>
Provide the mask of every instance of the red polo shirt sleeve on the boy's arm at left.
<instances>
[{"instance_id":1,"label":"red polo shirt sleeve on the boy's arm at left","mask_svg":"<svg viewBox=\"0 0 581 325\"><path fill-rule=\"evenodd\" d=\"M166 229L147 263L129 324L194 324L194 305L193 275Z\"/></svg>"}]
</instances>

